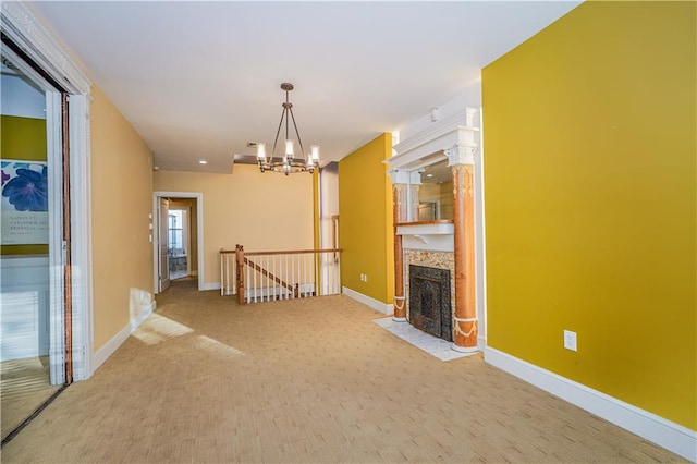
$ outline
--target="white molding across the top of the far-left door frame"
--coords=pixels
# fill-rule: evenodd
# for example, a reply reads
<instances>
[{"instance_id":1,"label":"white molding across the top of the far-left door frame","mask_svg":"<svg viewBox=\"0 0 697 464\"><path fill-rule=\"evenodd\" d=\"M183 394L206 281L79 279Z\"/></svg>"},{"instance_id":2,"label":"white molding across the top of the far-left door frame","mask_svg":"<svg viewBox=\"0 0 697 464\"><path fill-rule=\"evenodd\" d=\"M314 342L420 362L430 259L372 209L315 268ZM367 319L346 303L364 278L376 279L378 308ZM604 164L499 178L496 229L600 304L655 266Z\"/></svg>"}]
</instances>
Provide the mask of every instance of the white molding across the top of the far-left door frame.
<instances>
[{"instance_id":1,"label":"white molding across the top of the far-left door frame","mask_svg":"<svg viewBox=\"0 0 697 464\"><path fill-rule=\"evenodd\" d=\"M5 34L69 93L89 95L91 82L47 30L26 2L4 1L0 25Z\"/></svg>"}]
</instances>

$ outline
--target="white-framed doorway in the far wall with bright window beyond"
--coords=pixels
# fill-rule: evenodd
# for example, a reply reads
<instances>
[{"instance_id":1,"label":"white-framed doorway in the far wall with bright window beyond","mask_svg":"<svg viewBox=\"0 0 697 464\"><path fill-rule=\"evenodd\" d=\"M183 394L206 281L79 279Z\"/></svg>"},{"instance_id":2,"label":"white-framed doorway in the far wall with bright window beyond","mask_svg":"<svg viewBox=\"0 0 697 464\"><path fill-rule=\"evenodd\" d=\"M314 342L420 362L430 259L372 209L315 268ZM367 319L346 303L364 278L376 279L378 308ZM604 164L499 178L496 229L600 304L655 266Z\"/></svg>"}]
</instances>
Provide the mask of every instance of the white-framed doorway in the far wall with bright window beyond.
<instances>
[{"instance_id":1,"label":"white-framed doorway in the far wall with bright window beyond","mask_svg":"<svg viewBox=\"0 0 697 464\"><path fill-rule=\"evenodd\" d=\"M172 280L194 279L205 290L201 193L155 192L152 200L155 289Z\"/></svg>"}]
</instances>

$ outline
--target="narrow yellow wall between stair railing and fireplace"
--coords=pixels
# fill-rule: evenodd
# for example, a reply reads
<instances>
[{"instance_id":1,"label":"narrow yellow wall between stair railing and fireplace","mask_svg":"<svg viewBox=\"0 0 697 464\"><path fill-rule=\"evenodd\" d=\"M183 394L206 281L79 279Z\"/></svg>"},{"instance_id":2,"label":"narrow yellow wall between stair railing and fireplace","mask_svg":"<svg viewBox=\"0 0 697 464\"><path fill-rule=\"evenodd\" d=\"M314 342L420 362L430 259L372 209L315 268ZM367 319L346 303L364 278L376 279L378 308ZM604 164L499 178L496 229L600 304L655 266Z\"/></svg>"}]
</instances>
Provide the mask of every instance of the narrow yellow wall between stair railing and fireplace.
<instances>
[{"instance_id":1,"label":"narrow yellow wall between stair railing and fireplace","mask_svg":"<svg viewBox=\"0 0 697 464\"><path fill-rule=\"evenodd\" d=\"M342 285L388 304L394 296L394 232L392 188L382 161L390 156L392 135L382 134L339 161Z\"/></svg>"}]
</instances>

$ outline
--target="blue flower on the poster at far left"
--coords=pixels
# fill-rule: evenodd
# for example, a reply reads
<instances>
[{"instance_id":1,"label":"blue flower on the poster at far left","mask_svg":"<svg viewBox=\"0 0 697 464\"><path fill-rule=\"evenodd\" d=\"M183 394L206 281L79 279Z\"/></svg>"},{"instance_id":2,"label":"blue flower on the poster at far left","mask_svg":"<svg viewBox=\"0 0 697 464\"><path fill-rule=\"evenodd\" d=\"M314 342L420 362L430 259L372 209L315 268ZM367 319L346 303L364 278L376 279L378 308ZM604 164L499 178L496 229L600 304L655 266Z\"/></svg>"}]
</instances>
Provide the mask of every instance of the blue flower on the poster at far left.
<instances>
[{"instance_id":1,"label":"blue flower on the poster at far left","mask_svg":"<svg viewBox=\"0 0 697 464\"><path fill-rule=\"evenodd\" d=\"M2 196L10 199L17 211L48 211L48 176L46 166L41 171L15 169L15 176L2 186ZM2 171L4 180L4 170Z\"/></svg>"}]
</instances>

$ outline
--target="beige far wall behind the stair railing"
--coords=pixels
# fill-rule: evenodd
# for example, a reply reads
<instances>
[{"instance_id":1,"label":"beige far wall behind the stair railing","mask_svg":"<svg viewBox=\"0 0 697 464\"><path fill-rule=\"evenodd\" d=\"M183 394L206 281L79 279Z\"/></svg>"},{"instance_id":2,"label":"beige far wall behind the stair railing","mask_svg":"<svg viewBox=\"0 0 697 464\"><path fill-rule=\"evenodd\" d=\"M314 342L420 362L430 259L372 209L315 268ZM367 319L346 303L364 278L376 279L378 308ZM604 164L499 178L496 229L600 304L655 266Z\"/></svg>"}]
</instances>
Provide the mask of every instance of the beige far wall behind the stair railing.
<instances>
[{"instance_id":1,"label":"beige far wall behind the stair railing","mask_svg":"<svg viewBox=\"0 0 697 464\"><path fill-rule=\"evenodd\" d=\"M220 283L220 248L313 248L309 174L262 174L256 166L243 164L232 174L157 171L154 190L203 194L204 284L209 288Z\"/></svg>"}]
</instances>

